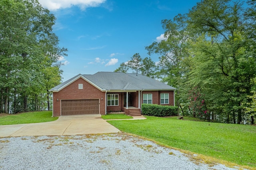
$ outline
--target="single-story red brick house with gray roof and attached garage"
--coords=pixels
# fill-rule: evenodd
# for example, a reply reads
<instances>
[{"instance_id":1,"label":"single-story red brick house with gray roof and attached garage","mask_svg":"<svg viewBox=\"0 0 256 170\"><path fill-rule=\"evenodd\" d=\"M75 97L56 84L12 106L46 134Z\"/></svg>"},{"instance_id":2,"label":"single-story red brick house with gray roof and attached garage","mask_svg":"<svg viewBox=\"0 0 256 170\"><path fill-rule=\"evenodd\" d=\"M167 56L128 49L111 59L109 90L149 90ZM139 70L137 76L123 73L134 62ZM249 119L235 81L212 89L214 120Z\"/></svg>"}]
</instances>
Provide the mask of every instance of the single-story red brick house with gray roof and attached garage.
<instances>
[{"instance_id":1,"label":"single-story red brick house with gray roof and attached garage","mask_svg":"<svg viewBox=\"0 0 256 170\"><path fill-rule=\"evenodd\" d=\"M140 115L142 103L174 105L174 90L172 86L141 74L79 74L50 89L52 115L105 115L119 111Z\"/></svg>"}]
</instances>

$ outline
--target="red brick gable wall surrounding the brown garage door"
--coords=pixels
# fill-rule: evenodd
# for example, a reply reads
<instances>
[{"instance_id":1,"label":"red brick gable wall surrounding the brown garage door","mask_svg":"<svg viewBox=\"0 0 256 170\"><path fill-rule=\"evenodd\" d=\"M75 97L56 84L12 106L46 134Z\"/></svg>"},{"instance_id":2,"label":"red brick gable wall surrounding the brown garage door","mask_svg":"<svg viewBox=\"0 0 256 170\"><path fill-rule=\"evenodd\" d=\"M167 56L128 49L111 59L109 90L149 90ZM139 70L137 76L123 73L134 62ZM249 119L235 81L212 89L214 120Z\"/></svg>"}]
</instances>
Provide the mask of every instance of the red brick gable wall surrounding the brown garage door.
<instances>
[{"instance_id":1,"label":"red brick gable wall surrounding the brown garage door","mask_svg":"<svg viewBox=\"0 0 256 170\"><path fill-rule=\"evenodd\" d=\"M83 89L78 89L78 84L83 84ZM103 100L101 100L101 98ZM59 99L59 101L57 101ZM60 103L63 99L99 99L100 114L105 115L105 92L100 91L82 78L74 81L59 92L53 93L53 116L60 116Z\"/></svg>"}]
</instances>

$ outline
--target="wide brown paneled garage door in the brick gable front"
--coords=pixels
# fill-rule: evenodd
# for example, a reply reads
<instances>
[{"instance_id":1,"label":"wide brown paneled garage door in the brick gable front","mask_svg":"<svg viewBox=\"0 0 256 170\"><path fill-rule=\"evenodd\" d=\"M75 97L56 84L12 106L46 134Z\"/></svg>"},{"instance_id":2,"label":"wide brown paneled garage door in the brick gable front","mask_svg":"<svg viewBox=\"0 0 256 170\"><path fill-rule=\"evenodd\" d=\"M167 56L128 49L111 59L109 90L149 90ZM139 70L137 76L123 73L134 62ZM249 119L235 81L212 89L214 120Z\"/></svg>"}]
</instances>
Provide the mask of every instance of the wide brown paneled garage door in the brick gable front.
<instances>
[{"instance_id":1,"label":"wide brown paneled garage door in the brick gable front","mask_svg":"<svg viewBox=\"0 0 256 170\"><path fill-rule=\"evenodd\" d=\"M62 100L61 115L99 114L99 100Z\"/></svg>"}]
</instances>

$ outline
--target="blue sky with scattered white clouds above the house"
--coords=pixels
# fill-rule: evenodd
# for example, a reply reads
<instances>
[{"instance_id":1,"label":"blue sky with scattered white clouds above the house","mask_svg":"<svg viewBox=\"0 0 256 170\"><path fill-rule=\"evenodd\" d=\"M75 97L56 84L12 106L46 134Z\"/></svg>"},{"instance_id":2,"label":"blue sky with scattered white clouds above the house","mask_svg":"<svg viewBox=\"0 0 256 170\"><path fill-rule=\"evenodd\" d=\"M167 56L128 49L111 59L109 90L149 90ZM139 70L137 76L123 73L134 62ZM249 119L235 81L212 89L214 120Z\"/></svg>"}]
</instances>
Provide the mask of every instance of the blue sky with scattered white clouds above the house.
<instances>
[{"instance_id":1,"label":"blue sky with scattered white clouds above the house","mask_svg":"<svg viewBox=\"0 0 256 170\"><path fill-rule=\"evenodd\" d=\"M68 48L62 81L75 75L114 71L120 63L162 40L161 20L189 11L200 0L39 0L56 17L53 32ZM150 56L158 62L158 55Z\"/></svg>"}]
</instances>

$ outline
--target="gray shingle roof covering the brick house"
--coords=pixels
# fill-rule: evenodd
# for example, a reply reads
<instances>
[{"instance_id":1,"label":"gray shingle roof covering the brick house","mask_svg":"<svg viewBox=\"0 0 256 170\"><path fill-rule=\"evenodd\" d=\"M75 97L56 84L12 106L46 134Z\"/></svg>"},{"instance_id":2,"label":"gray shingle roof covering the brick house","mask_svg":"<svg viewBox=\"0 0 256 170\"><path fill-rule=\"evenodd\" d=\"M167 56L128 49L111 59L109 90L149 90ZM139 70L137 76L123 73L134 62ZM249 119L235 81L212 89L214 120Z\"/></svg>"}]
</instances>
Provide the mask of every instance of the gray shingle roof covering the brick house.
<instances>
[{"instance_id":1,"label":"gray shingle roof covering the brick house","mask_svg":"<svg viewBox=\"0 0 256 170\"><path fill-rule=\"evenodd\" d=\"M176 88L142 74L126 74L116 72L98 72L94 75L77 75L68 81L50 89L60 90L77 78L82 77L102 90L175 90Z\"/></svg>"}]
</instances>

